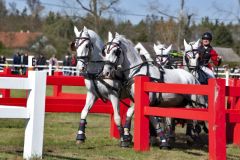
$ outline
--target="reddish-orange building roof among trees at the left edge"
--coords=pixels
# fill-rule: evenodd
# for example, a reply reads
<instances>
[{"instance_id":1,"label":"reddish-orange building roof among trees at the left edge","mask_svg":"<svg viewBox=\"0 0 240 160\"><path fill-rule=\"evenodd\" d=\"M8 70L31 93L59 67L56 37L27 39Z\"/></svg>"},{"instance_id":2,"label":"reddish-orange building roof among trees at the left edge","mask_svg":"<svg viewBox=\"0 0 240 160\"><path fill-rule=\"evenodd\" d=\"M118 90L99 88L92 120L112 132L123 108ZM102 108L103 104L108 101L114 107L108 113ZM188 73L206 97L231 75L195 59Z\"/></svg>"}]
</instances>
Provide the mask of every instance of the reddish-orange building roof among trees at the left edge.
<instances>
[{"instance_id":1,"label":"reddish-orange building roof among trees at the left edge","mask_svg":"<svg viewBox=\"0 0 240 160\"><path fill-rule=\"evenodd\" d=\"M40 36L41 32L0 32L0 42L7 48L27 48Z\"/></svg>"}]
</instances>

